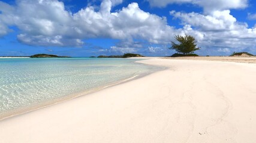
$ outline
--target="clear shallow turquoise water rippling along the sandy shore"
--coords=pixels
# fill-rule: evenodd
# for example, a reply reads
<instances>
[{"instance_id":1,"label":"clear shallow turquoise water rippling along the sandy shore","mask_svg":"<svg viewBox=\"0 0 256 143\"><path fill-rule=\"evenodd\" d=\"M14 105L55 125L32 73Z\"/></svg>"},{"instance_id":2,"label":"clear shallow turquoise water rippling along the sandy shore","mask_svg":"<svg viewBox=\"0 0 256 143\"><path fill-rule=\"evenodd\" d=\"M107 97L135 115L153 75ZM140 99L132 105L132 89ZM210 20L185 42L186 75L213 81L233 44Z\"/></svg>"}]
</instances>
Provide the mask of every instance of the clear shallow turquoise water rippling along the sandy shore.
<instances>
[{"instance_id":1,"label":"clear shallow turquoise water rippling along the sandy shore","mask_svg":"<svg viewBox=\"0 0 256 143\"><path fill-rule=\"evenodd\" d=\"M0 119L21 108L43 106L159 67L123 58L2 58Z\"/></svg>"}]
</instances>

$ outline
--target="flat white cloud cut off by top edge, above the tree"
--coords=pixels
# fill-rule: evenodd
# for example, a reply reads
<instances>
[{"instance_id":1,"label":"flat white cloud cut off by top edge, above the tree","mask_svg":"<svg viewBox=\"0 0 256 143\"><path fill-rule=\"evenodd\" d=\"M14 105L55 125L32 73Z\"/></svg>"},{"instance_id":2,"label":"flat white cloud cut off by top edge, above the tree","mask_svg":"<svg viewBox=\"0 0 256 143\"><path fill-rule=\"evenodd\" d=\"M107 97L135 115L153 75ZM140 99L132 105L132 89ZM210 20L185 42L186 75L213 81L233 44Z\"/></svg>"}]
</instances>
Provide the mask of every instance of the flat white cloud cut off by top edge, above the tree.
<instances>
[{"instance_id":1,"label":"flat white cloud cut off by top edge, above the tree","mask_svg":"<svg viewBox=\"0 0 256 143\"><path fill-rule=\"evenodd\" d=\"M229 10L237 8L245 8L248 0L147 0L153 7L166 7L168 4L184 4L190 3L199 5L204 11L210 12L214 10Z\"/></svg>"}]
</instances>

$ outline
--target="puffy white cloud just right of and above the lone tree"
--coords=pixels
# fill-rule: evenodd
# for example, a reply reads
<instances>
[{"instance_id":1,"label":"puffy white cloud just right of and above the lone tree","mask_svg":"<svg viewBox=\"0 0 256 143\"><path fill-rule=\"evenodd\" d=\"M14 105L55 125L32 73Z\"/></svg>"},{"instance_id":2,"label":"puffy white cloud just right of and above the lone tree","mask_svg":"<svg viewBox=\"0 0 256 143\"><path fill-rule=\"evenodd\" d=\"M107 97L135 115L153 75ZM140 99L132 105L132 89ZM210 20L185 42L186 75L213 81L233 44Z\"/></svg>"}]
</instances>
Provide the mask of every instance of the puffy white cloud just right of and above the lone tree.
<instances>
[{"instance_id":1,"label":"puffy white cloud just right of and above the lone tree","mask_svg":"<svg viewBox=\"0 0 256 143\"><path fill-rule=\"evenodd\" d=\"M214 11L210 15L181 13L170 11L174 18L179 18L187 28L187 33L196 35L202 46L224 48L248 48L255 43L256 29L249 29L248 24L237 22L230 10ZM201 36L200 36L201 35Z\"/></svg>"}]
</instances>

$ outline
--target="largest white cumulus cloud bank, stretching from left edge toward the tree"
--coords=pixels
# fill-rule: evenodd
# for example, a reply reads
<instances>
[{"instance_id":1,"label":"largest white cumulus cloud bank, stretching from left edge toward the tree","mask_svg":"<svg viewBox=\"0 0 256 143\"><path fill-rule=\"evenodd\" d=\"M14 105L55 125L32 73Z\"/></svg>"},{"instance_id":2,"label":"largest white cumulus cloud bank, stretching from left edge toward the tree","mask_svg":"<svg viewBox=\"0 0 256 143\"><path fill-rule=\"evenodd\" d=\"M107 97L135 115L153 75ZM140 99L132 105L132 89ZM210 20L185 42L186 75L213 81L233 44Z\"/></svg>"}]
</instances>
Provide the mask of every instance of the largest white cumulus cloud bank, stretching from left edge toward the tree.
<instances>
[{"instance_id":1,"label":"largest white cumulus cloud bank, stretching from left edge toward the tree","mask_svg":"<svg viewBox=\"0 0 256 143\"><path fill-rule=\"evenodd\" d=\"M8 33L10 25L17 26L20 42L42 46L81 46L86 38L134 39L152 43L167 43L173 34L165 17L146 13L131 3L115 13L113 5L122 0L104 0L100 10L88 6L70 13L57 0L19 0L11 6L1 2L0 34ZM11 10L5 10L5 9ZM36 12L36 14L35 14Z\"/></svg>"}]
</instances>

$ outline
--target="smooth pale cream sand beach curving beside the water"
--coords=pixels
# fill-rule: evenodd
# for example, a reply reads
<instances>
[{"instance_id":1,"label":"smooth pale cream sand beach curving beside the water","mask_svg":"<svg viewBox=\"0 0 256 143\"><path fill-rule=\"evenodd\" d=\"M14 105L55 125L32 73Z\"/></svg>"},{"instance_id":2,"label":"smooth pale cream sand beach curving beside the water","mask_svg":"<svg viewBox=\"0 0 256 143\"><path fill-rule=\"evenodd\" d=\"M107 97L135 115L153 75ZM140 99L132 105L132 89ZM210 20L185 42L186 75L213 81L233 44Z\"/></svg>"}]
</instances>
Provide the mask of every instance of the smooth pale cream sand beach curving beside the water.
<instances>
[{"instance_id":1,"label":"smooth pale cream sand beach curving beside the water","mask_svg":"<svg viewBox=\"0 0 256 143\"><path fill-rule=\"evenodd\" d=\"M168 69L1 120L0 142L256 142L256 64L138 62Z\"/></svg>"}]
</instances>

